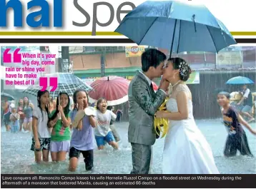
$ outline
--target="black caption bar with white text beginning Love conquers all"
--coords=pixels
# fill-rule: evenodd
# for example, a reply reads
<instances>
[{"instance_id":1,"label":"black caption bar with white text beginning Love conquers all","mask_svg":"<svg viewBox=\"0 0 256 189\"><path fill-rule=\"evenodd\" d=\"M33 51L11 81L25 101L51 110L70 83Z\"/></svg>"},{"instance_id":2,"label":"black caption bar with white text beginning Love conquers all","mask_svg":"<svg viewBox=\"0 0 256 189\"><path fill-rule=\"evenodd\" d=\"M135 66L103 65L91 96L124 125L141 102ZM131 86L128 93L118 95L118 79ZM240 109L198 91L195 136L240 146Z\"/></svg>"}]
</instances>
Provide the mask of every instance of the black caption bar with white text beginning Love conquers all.
<instances>
[{"instance_id":1,"label":"black caption bar with white text beginning Love conquers all","mask_svg":"<svg viewBox=\"0 0 256 189\"><path fill-rule=\"evenodd\" d=\"M250 188L250 182L253 175L1 175L1 188Z\"/></svg>"}]
</instances>

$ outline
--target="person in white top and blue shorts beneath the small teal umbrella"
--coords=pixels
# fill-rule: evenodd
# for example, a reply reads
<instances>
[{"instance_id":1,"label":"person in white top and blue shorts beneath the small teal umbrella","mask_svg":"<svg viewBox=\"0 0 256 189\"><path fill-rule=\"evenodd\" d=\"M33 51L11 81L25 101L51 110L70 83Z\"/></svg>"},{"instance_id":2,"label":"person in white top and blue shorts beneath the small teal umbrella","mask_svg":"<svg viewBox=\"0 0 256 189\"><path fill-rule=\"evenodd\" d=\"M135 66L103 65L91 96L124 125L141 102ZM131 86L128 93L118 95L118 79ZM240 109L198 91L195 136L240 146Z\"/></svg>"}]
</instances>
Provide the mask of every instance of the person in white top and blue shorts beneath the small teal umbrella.
<instances>
[{"instance_id":1,"label":"person in white top and blue shorts beneath the small teal umbrella","mask_svg":"<svg viewBox=\"0 0 256 189\"><path fill-rule=\"evenodd\" d=\"M243 95L242 99L237 103L237 106L241 106L240 108L240 113L242 114L242 116L247 116L248 118L250 118L250 120L248 121L248 123L255 121L255 118L253 118L250 113L252 112L252 106L253 106L253 102L252 102L252 92L250 91L249 88L247 88L247 85L243 85L242 86L242 92L240 91L240 93Z\"/></svg>"}]
</instances>

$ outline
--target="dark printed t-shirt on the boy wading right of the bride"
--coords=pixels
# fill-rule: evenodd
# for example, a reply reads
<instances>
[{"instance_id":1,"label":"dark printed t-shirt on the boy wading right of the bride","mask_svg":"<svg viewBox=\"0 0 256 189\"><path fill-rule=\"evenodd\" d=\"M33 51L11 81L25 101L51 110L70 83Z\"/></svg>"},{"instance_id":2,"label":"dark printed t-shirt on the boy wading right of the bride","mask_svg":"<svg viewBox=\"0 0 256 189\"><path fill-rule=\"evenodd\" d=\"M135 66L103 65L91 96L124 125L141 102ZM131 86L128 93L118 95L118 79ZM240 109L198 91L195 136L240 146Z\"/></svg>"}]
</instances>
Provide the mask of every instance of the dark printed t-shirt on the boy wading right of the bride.
<instances>
[{"instance_id":1,"label":"dark printed t-shirt on the boy wading right of the bride","mask_svg":"<svg viewBox=\"0 0 256 189\"><path fill-rule=\"evenodd\" d=\"M242 132L242 126L238 121L238 113L235 111L235 108L230 106L227 110L227 113L223 113L224 125L227 129L227 133L230 136Z\"/></svg>"}]
</instances>

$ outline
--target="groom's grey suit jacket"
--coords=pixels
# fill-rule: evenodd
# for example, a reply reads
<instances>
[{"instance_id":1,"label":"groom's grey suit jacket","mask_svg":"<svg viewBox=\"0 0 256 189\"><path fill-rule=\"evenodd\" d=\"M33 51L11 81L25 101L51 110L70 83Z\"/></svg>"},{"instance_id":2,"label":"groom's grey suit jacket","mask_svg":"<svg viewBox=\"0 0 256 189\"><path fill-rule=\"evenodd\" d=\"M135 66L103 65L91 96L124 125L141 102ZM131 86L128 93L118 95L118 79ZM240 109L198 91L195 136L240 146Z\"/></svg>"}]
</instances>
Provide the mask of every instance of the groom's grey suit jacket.
<instances>
[{"instance_id":1,"label":"groom's grey suit jacket","mask_svg":"<svg viewBox=\"0 0 256 189\"><path fill-rule=\"evenodd\" d=\"M154 90L145 76L137 71L129 85L129 143L153 145L156 141L154 113L164 101L164 91Z\"/></svg>"}]
</instances>

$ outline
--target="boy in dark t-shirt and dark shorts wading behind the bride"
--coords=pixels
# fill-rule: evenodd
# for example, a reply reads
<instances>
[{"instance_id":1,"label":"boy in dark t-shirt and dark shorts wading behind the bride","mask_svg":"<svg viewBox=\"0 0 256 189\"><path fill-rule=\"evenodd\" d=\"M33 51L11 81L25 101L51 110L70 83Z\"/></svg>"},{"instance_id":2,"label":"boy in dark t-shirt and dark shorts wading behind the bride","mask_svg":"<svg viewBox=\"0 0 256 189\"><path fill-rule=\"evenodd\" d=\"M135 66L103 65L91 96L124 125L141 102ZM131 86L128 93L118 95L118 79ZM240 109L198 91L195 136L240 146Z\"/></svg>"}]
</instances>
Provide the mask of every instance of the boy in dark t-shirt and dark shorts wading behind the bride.
<instances>
[{"instance_id":1,"label":"boy in dark t-shirt and dark shorts wading behind the bride","mask_svg":"<svg viewBox=\"0 0 256 189\"><path fill-rule=\"evenodd\" d=\"M230 106L230 93L220 92L217 96L217 103L222 106L223 121L228 133L224 155L226 157L235 156L239 150L241 155L252 156L247 136L241 124L254 135L256 135L256 131L237 113L235 108Z\"/></svg>"}]
</instances>

